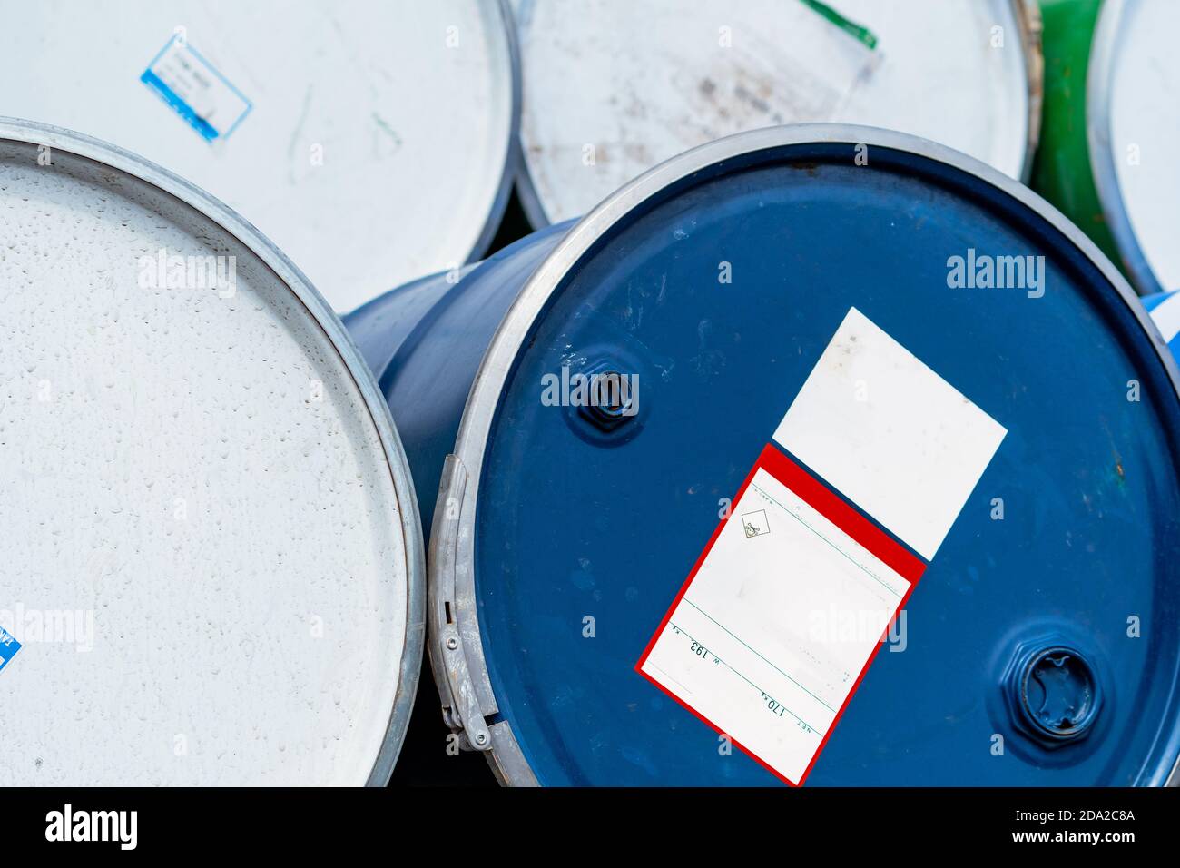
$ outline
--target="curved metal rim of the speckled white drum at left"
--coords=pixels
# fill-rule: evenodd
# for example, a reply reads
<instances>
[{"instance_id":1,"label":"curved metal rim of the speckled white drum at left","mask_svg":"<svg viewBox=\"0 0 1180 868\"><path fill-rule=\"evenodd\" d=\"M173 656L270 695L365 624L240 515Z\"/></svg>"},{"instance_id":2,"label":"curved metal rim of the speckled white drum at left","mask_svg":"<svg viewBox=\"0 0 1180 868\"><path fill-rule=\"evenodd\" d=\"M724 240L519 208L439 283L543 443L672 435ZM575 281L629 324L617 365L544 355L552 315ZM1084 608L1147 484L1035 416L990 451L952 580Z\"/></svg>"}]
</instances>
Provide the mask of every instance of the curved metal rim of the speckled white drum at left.
<instances>
[{"instance_id":1,"label":"curved metal rim of the speckled white drum at left","mask_svg":"<svg viewBox=\"0 0 1180 868\"><path fill-rule=\"evenodd\" d=\"M80 132L52 126L33 120L0 116L0 142L47 145L51 149L72 154L83 159L109 165L163 190L183 204L192 208L216 223L257 256L282 281L323 331L339 353L348 376L361 394L369 417L381 440L386 463L393 479L394 496L401 518L405 543L406 569L406 638L402 646L401 665L398 673L398 691L394 697L389 723L378 756L373 762L366 785L385 787L393 775L409 714L418 690L418 677L425 645L426 619L426 568L409 463L401 446L401 438L393 423L389 407L373 379L373 374L361 359L360 352L345 329L332 306L308 281L303 273L269 239L234 209L204 190L198 189L178 175L148 161L131 151Z\"/></svg>"}]
</instances>

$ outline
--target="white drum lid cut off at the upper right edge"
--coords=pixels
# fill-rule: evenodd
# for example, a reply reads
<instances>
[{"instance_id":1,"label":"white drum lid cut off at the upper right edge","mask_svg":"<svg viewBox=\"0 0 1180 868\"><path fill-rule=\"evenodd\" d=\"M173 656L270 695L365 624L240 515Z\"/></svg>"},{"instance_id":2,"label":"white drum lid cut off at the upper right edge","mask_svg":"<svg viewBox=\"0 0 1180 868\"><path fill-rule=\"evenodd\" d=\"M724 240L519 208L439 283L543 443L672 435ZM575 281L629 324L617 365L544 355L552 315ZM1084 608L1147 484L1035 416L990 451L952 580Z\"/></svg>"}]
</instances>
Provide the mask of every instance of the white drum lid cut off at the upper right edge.
<instances>
[{"instance_id":1,"label":"white drum lid cut off at the upper right edge","mask_svg":"<svg viewBox=\"0 0 1180 868\"><path fill-rule=\"evenodd\" d=\"M1107 224L1135 287L1180 288L1180 63L1171 38L1180 6L1107 0L1087 84L1087 135Z\"/></svg>"}]
</instances>

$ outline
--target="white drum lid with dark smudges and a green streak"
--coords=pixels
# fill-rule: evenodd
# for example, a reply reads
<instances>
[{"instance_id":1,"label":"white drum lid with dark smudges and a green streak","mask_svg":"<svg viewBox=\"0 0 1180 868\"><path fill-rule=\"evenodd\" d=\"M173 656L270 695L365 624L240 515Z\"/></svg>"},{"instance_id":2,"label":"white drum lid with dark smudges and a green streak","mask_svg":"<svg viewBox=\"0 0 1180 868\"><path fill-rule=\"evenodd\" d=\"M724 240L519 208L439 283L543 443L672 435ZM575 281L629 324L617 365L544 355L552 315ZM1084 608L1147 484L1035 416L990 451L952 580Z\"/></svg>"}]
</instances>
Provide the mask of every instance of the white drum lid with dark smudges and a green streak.
<instances>
[{"instance_id":1,"label":"white drum lid with dark smudges and a green streak","mask_svg":"<svg viewBox=\"0 0 1180 868\"><path fill-rule=\"evenodd\" d=\"M1035 4L517 0L513 8L522 198L533 226L579 217L656 163L762 126L902 130L1012 177L1028 172L1036 144Z\"/></svg>"}]
</instances>

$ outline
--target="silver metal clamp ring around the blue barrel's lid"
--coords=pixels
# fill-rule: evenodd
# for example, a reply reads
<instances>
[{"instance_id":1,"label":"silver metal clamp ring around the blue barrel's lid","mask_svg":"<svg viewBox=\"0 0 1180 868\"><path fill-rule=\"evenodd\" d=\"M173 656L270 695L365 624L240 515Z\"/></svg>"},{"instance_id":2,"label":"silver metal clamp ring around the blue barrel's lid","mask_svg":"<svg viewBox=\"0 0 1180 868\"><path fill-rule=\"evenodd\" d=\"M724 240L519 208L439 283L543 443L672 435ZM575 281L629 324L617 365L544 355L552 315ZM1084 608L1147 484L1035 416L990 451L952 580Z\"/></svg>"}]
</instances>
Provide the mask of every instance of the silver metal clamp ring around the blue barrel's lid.
<instances>
[{"instance_id":1,"label":"silver metal clamp ring around the blue barrel's lid","mask_svg":"<svg viewBox=\"0 0 1180 868\"><path fill-rule=\"evenodd\" d=\"M1168 380L1180 400L1180 367L1172 358L1163 338L1155 327L1149 314L1140 304L1139 298L1127 283L1117 268L1106 257L1099 247L1075 227L1069 220L1045 200L1015 178L1004 175L982 161L956 151L946 145L918 138L904 132L883 130L852 124L799 124L794 126L766 128L740 132L734 136L708 142L693 150L673 157L648 170L638 178L618 189L605 198L597 208L575 224L553 248L552 253L537 267L524 287L518 293L509 312L505 314L480 363L476 379L464 407L463 420L455 438L454 456L463 465L466 475L463 496L458 503L457 533L442 530L442 522L434 522L431 537L431 550L446 549L446 556L433 557L428 564L428 579L432 588L444 581L440 562L451 562L453 567L454 596L458 620L471 625L465 634L464 652L476 684L490 684L490 671L484 652L484 640L479 626L478 598L476 593L476 510L479 501L479 482L483 472L484 457L489 446L492 423L500 398L512 371L513 361L524 342L529 339L537 318L549 306L557 287L562 283L571 267L576 266L591 247L615 224L624 220L632 209L648 198L658 195L661 190L728 158L750 155L758 151L773 151L784 146L806 144L866 144L870 148L897 150L925 157L936 163L958 169L990 184L1001 192L1025 205L1042 220L1049 223L1064 239L1080 249L1099 269L1102 276L1114 287L1119 298L1127 306L1132 318L1145 331L1148 341L1155 348L1163 365ZM440 637L432 632L431 659L442 660ZM435 670L435 678L444 681L446 673ZM492 696L496 703L494 691ZM498 709L484 709L485 714ZM486 757L493 772L502 783L510 785L536 785L536 774L530 768L520 744L507 719L490 727L491 745ZM1168 777L1171 783L1180 783L1180 757L1175 761Z\"/></svg>"}]
</instances>

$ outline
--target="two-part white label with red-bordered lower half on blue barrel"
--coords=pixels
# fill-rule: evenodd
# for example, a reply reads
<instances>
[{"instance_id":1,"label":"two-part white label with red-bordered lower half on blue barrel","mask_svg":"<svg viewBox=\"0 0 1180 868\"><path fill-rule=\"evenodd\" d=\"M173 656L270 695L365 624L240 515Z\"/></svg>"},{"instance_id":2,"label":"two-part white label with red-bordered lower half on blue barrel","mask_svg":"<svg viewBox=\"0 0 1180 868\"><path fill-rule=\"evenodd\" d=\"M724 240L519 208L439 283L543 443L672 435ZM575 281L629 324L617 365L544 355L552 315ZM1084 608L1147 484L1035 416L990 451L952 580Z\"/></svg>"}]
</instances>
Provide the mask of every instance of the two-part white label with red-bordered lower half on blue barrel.
<instances>
[{"instance_id":1,"label":"two-part white label with red-bordered lower half on blue barrel","mask_svg":"<svg viewBox=\"0 0 1180 868\"><path fill-rule=\"evenodd\" d=\"M636 671L802 784L1005 433L851 308Z\"/></svg>"}]
</instances>

